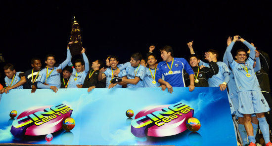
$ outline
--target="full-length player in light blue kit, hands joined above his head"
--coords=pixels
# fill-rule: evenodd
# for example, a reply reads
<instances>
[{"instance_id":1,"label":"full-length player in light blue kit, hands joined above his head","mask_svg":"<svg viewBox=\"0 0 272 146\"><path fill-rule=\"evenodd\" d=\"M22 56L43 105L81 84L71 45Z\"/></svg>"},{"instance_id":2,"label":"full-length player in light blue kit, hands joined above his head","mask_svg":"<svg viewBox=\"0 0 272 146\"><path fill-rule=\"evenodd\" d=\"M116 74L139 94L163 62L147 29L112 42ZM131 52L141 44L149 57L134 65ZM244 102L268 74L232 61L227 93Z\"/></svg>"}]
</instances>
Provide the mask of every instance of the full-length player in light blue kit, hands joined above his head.
<instances>
[{"instance_id":1,"label":"full-length player in light blue kit, hands joined above his head","mask_svg":"<svg viewBox=\"0 0 272 146\"><path fill-rule=\"evenodd\" d=\"M236 52L235 58L237 59L237 62L233 60L230 51L236 41L243 42L251 50L247 61L246 51L242 49L239 49ZM253 136L253 127L251 124L251 114L254 113L259 120L260 129L263 133L266 146L272 146L269 138L269 126L264 114L264 112L269 111L270 108L261 93L258 79L253 70L255 47L243 38L234 36L232 42L227 47L226 54L229 66L232 68L232 72L234 74L239 98L238 111L244 116L245 129L250 142L249 146L256 146L255 137Z\"/></svg>"}]
</instances>

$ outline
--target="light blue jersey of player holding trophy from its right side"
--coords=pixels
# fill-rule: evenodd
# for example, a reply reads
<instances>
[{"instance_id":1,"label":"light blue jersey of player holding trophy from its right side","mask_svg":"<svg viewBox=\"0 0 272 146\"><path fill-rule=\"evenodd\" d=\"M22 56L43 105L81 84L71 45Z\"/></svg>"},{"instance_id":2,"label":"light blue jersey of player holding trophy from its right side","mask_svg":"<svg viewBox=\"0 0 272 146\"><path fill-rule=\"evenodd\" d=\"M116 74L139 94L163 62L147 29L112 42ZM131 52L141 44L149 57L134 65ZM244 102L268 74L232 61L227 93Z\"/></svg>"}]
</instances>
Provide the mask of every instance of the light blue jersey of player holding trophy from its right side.
<instances>
[{"instance_id":1,"label":"light blue jersey of player holding trophy from its right side","mask_svg":"<svg viewBox=\"0 0 272 146\"><path fill-rule=\"evenodd\" d=\"M85 71L77 73L77 70L73 68L73 73L70 76L67 88L78 88L77 84L80 85L80 84L84 83L85 77L90 70L89 69L89 60L88 60L86 54L82 53L82 55L83 55L83 59L85 62L85 65L84 65Z\"/></svg>"}]
</instances>

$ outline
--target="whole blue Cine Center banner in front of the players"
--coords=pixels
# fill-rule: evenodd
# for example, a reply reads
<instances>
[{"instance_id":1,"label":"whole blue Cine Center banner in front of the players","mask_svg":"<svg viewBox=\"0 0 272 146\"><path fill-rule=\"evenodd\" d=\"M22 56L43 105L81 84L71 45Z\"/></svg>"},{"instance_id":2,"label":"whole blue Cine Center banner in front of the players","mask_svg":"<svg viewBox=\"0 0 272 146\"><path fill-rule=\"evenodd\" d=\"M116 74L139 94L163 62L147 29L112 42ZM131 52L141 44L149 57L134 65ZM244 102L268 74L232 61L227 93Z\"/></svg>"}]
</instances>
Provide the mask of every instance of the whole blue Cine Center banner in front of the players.
<instances>
[{"instance_id":1,"label":"whole blue Cine Center banner in front of the players","mask_svg":"<svg viewBox=\"0 0 272 146\"><path fill-rule=\"evenodd\" d=\"M173 89L172 94L161 88L93 89L90 93L87 89L57 93L38 89L33 94L28 89L10 90L0 101L0 144L237 145L226 90ZM15 110L17 115L11 118ZM126 116L127 110L133 110L132 118ZM72 127L65 127L69 122Z\"/></svg>"}]
</instances>

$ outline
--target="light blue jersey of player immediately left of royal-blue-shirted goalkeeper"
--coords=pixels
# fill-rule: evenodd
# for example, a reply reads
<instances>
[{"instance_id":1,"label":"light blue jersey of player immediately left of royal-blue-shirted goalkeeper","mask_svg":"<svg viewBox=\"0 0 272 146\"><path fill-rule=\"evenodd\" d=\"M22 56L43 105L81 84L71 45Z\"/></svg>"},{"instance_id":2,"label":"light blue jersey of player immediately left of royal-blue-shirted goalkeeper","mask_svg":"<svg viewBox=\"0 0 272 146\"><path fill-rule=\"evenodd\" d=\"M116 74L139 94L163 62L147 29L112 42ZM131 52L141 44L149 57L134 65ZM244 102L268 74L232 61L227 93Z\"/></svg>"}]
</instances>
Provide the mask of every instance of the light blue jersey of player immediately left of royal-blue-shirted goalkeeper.
<instances>
[{"instance_id":1,"label":"light blue jersey of player immediately left of royal-blue-shirted goalkeeper","mask_svg":"<svg viewBox=\"0 0 272 146\"><path fill-rule=\"evenodd\" d=\"M155 80L156 68L155 69L145 68L145 69L146 69L146 73L145 73L145 77L143 79L144 87L159 87L161 84L156 82L156 80ZM150 71L151 71L152 74L150 73ZM154 84L154 82L155 82L155 84Z\"/></svg>"}]
</instances>

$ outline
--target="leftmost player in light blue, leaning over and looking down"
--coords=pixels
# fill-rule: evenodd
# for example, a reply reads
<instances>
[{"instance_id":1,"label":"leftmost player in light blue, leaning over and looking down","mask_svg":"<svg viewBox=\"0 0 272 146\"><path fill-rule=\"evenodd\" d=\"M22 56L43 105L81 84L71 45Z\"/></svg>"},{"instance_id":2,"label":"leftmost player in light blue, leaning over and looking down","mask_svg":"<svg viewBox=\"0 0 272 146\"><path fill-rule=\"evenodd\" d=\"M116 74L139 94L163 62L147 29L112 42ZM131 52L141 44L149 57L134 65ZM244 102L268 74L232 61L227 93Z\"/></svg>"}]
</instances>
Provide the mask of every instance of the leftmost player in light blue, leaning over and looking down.
<instances>
[{"instance_id":1,"label":"leftmost player in light blue, leaning over and looking down","mask_svg":"<svg viewBox=\"0 0 272 146\"><path fill-rule=\"evenodd\" d=\"M10 63L4 66L5 72L5 87L0 90L0 93L8 93L11 89L23 89L23 84L26 82L26 77L23 72L16 72L14 66Z\"/></svg>"}]
</instances>

